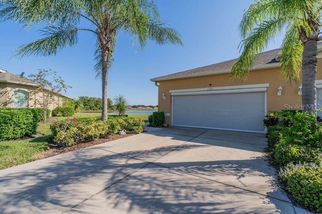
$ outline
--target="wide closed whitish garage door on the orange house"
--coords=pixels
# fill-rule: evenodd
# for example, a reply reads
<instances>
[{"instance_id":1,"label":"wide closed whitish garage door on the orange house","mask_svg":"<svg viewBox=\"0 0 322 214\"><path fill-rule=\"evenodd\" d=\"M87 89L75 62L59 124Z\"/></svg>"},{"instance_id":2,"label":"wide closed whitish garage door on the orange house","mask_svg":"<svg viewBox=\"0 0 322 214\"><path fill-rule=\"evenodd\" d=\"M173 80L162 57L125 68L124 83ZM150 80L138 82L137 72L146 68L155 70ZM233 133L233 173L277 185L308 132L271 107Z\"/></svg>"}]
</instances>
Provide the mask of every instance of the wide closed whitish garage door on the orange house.
<instances>
[{"instance_id":1,"label":"wide closed whitish garage door on the orange house","mask_svg":"<svg viewBox=\"0 0 322 214\"><path fill-rule=\"evenodd\" d=\"M264 133L265 91L173 94L173 126Z\"/></svg>"}]
</instances>

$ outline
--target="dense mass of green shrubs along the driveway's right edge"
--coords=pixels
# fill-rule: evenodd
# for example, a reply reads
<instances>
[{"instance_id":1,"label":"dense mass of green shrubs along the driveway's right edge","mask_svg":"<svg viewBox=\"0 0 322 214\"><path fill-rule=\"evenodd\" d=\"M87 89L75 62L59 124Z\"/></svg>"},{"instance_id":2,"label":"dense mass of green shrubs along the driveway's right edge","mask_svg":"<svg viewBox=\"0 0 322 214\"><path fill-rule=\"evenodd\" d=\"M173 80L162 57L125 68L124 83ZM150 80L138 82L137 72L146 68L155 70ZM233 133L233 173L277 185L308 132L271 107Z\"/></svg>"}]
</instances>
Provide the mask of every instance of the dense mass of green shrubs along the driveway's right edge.
<instances>
[{"instance_id":1,"label":"dense mass of green shrubs along the driveway's right edge","mask_svg":"<svg viewBox=\"0 0 322 214\"><path fill-rule=\"evenodd\" d=\"M281 125L268 127L270 152L286 189L301 205L322 211L322 125L313 113L282 111Z\"/></svg>"}]
</instances>

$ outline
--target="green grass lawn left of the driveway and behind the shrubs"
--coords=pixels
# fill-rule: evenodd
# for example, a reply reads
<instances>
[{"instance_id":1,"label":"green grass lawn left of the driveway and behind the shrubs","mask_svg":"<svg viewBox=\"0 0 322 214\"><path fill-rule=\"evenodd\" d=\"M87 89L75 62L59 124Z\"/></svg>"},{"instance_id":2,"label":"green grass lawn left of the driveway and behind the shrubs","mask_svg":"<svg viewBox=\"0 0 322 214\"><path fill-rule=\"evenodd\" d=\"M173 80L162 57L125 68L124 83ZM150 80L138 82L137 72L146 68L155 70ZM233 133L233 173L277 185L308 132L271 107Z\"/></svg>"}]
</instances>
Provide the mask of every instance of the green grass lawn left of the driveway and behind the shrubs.
<instances>
[{"instance_id":1,"label":"green grass lawn left of the driveway and behind the shrubs","mask_svg":"<svg viewBox=\"0 0 322 214\"><path fill-rule=\"evenodd\" d=\"M129 114L129 117L141 118L147 121L150 114ZM99 117L101 113L76 113L73 117L56 117L57 120L67 118L87 118ZM48 147L47 139L50 137L49 124L39 124L38 133L44 134L43 137L27 140L2 141L0 142L0 169L20 165L35 160L35 155L46 150Z\"/></svg>"}]
</instances>

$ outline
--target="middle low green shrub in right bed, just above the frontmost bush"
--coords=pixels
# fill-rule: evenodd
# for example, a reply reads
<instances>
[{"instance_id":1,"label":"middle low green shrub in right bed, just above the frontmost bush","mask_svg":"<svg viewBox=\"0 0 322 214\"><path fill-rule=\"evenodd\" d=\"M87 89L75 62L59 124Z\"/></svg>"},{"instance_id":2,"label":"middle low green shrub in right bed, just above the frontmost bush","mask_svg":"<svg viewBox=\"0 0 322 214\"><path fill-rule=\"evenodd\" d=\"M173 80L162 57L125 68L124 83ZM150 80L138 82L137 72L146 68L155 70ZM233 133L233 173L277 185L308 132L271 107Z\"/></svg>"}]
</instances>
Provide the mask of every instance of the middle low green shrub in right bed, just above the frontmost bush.
<instances>
[{"instance_id":1,"label":"middle low green shrub in right bed, just above the frontmost bush","mask_svg":"<svg viewBox=\"0 0 322 214\"><path fill-rule=\"evenodd\" d=\"M286 166L288 163L320 163L322 160L321 148L306 145L291 145L281 139L274 148L274 158L279 166Z\"/></svg>"}]
</instances>

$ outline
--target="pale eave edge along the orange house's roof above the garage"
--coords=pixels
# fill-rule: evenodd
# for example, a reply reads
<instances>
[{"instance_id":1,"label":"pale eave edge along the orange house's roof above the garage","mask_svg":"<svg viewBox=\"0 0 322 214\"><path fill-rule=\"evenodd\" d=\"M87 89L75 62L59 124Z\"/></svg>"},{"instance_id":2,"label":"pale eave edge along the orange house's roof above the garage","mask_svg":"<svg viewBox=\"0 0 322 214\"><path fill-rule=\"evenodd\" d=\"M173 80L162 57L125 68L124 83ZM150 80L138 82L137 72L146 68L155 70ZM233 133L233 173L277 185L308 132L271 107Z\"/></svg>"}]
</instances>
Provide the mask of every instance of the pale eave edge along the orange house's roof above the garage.
<instances>
[{"instance_id":1,"label":"pale eave edge along the orange house's roof above the garage","mask_svg":"<svg viewBox=\"0 0 322 214\"><path fill-rule=\"evenodd\" d=\"M271 69L271 68L279 68L280 63L269 63L265 65L257 65L251 68L251 71L253 70L265 70L265 69ZM206 72L200 72L200 73L191 73L191 74L184 74L180 76L168 76L168 77L156 77L150 79L152 82L159 82L159 81L166 81L166 80L173 80L173 79L185 79L185 78L192 78L192 77L199 77L199 76L210 76L210 75L218 75L218 74L225 74L229 73L230 68L228 69L222 69L222 70L216 70L216 71L206 71Z\"/></svg>"}]
</instances>

